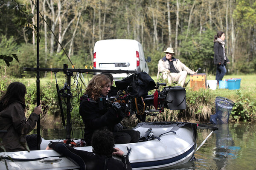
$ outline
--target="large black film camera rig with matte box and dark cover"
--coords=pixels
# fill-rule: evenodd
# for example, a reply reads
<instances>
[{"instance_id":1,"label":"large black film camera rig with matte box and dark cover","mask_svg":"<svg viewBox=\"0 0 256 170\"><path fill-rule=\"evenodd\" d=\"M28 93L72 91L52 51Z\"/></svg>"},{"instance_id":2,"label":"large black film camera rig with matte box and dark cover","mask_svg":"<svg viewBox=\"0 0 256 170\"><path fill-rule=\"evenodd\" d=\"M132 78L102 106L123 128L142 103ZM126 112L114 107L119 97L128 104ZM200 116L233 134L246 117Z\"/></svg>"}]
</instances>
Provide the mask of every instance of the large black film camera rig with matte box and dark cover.
<instances>
[{"instance_id":1,"label":"large black film camera rig with matte box and dark cover","mask_svg":"<svg viewBox=\"0 0 256 170\"><path fill-rule=\"evenodd\" d=\"M145 72L134 74L121 81L116 81L118 93L116 96L107 96L99 98L100 109L111 108L113 102L119 102L121 105L122 116L136 117L145 121L145 116L157 115L164 108L169 110L186 109L186 90L180 86L164 87L162 91L160 86L166 86L166 83L155 84L154 80ZM156 89L154 94L148 95L148 91Z\"/></svg>"}]
</instances>

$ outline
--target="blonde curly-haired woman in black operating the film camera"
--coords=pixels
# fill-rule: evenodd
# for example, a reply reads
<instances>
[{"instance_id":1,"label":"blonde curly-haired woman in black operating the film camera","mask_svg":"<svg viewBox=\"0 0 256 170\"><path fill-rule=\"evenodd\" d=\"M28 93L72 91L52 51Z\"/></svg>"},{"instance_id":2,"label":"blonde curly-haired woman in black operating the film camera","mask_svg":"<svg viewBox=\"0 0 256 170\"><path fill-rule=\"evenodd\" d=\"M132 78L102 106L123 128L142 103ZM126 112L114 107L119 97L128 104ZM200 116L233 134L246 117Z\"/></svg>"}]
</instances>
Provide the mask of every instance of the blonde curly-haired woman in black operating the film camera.
<instances>
[{"instance_id":1,"label":"blonde curly-haired woman in black operating the film camera","mask_svg":"<svg viewBox=\"0 0 256 170\"><path fill-rule=\"evenodd\" d=\"M108 76L95 76L87 85L84 95L80 99L79 114L84 122L84 140L87 146L91 145L93 132L99 129L108 129L113 132L115 144L137 142L140 132L135 130L115 131L115 126L122 121L121 105L114 102L112 108L99 109L99 97L108 95L111 80Z\"/></svg>"}]
</instances>

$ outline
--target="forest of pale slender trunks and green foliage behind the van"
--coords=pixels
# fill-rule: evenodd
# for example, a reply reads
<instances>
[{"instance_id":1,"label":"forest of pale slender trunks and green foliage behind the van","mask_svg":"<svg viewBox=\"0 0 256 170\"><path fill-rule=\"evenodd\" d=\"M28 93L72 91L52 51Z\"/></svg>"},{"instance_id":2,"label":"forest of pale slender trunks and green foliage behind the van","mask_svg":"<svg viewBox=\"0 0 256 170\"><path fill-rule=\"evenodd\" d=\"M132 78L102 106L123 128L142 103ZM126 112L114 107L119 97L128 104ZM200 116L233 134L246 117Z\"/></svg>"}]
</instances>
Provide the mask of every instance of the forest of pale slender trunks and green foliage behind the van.
<instances>
[{"instance_id":1,"label":"forest of pale slender trunks and green foliage behind the van","mask_svg":"<svg viewBox=\"0 0 256 170\"><path fill-rule=\"evenodd\" d=\"M0 55L15 53L19 59L7 68L1 59L1 75L13 79L35 77L35 73L23 71L23 67L36 66L35 32L23 27L26 26L26 18L20 18L17 11L11 8L14 2L23 4L21 9L28 14L36 13L35 0L0 1ZM196 70L200 67L202 72L214 75L213 38L217 31L224 31L226 54L231 62L227 65L227 74L255 73L254 0L40 0L39 9L41 68L62 68L64 63L70 64L67 56L76 68L86 68L92 65L96 41L134 39L142 43L145 56L151 57L152 61L148 63L151 76L157 74L157 62L165 55L163 51L167 47L174 48L175 57L190 68ZM30 19L37 25L36 15L30 15ZM41 73L41 77L49 76L50 73ZM5 89L5 81L9 80L1 80L1 90ZM49 89L43 90L46 90L43 102L57 101L56 96L48 95ZM214 97L209 102L209 92L189 93L187 99L193 101L189 96L195 99L200 97L206 105L210 103L208 108L214 112ZM242 95L239 94L240 97ZM35 104L35 93L31 92L30 97L30 104ZM250 101L253 103L254 100ZM194 104L191 103L191 106ZM243 104L236 114L244 111ZM253 104L250 102L250 105ZM51 107L52 110L49 109ZM190 113L202 112L200 107L194 110L190 107ZM44 109L55 114L59 113L57 108L45 104ZM238 117L234 119L251 120L253 117L256 120L255 107L252 110L250 118L241 119L241 115L235 115ZM171 119L174 120L175 116ZM209 115L202 117L207 120Z\"/></svg>"}]
</instances>

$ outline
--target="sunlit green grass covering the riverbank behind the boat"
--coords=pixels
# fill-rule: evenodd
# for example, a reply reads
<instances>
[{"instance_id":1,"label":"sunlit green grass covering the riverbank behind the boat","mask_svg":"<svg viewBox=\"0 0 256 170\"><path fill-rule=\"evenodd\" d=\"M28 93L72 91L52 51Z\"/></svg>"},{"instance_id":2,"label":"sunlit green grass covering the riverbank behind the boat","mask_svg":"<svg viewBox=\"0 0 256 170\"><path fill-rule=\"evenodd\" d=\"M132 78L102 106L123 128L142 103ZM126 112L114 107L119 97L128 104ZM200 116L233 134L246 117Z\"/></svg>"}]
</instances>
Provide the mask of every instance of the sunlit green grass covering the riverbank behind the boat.
<instances>
[{"instance_id":1,"label":"sunlit green grass covering the riverbank behind the boat","mask_svg":"<svg viewBox=\"0 0 256 170\"><path fill-rule=\"evenodd\" d=\"M84 79L86 81L86 84L88 84L88 79L90 80L92 78L91 75L87 78L87 75L84 74ZM215 112L215 97L221 96L225 97L227 99L232 100L235 103L239 103L240 100L241 107L242 108L236 108L237 113L240 113L243 111L243 114L249 115L251 117L252 121L256 120L256 112L255 107L250 106L250 104L254 105L256 99L256 74L250 74L250 75L226 75L224 77L225 79L229 78L241 78L241 85L240 85L240 96L237 94L237 90L228 90L228 89L206 89L200 90L200 91L191 91L190 89L190 83L186 87L186 93L187 93L187 109L186 111L179 112L179 111L167 111L162 114L159 114L159 116L150 116L150 118L147 119L147 121L191 121L191 119L194 119L195 121L207 121L208 118L205 118L205 114L207 113L207 117L209 117L210 114L214 114ZM5 81L6 78L3 78L3 81ZM7 78L8 79L8 78ZM156 76L152 76L152 79L154 79L155 82ZM186 78L186 82L190 79L190 76L188 75ZM215 79L215 75L207 75L207 79ZM23 78L23 79L16 79L16 78L10 78L10 82L13 81L20 81L20 82L26 82L26 85L29 86L35 85L36 83L36 77L32 78ZM59 88L62 88L65 81L65 76L63 73L57 74L57 81ZM6 84L6 83L4 83ZM4 85L3 84L3 85ZM51 84L51 86L47 85ZM55 76L52 74L52 77L50 74L47 75L47 78L40 78L40 86L41 90L48 90L45 92L47 94L46 96L41 96L43 98L50 98L52 99L52 90L55 90ZM73 79L71 80L71 84L73 84ZM46 86L45 86L46 85ZM35 87L35 86L34 86ZM44 89L44 87L51 87L50 89ZM75 87L75 86L74 86ZM54 89L52 89L54 88ZM84 86L82 87L82 93L84 92ZM241 97L242 96L242 97ZM240 97L240 98L239 98ZM198 100L199 99L199 100ZM53 99L54 100L54 99ZM201 101L201 102L195 102ZM206 102L207 101L207 102ZM251 102L250 102L251 101ZM248 103L249 102L249 103ZM48 105L49 103L45 103L45 105ZM51 103L52 104L52 103ZM248 112L247 112L247 109ZM56 108L55 108L56 110ZM55 111L54 110L54 111ZM245 112L244 112L245 111ZM53 113L53 111L51 111ZM76 112L76 111L74 111ZM79 116L78 116L79 117ZM235 120L234 118L233 120ZM138 121L134 117L134 121L128 121L128 123L134 122L136 123Z\"/></svg>"}]
</instances>

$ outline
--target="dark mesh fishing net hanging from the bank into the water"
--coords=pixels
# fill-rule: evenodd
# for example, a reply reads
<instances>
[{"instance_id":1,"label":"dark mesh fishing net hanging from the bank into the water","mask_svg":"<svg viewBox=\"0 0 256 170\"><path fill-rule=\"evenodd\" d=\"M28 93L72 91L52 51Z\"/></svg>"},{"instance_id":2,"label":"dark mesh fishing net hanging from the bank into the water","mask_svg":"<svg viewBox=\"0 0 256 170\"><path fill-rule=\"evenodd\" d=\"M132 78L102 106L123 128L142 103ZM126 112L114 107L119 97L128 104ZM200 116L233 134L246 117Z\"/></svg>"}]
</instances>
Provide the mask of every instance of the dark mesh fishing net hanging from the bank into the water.
<instances>
[{"instance_id":1,"label":"dark mesh fishing net hanging from the bank into the water","mask_svg":"<svg viewBox=\"0 0 256 170\"><path fill-rule=\"evenodd\" d=\"M228 123L233 106L234 102L230 99L217 96L215 99L216 112L210 116L210 122L213 124Z\"/></svg>"}]
</instances>

